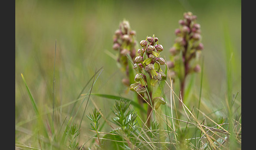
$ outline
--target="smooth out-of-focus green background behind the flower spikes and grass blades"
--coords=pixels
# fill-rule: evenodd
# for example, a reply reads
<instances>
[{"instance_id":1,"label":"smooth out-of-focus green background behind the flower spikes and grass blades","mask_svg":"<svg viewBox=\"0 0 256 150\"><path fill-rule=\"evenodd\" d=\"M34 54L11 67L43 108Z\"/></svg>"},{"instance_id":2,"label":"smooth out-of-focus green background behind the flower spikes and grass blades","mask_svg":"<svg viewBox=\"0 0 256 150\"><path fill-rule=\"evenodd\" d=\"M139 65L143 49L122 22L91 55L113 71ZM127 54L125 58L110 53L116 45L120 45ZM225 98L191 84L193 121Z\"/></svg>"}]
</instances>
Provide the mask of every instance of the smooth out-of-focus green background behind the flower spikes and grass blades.
<instances>
[{"instance_id":1,"label":"smooth out-of-focus green background behind the flower spikes and grass blades","mask_svg":"<svg viewBox=\"0 0 256 150\"><path fill-rule=\"evenodd\" d=\"M96 69L103 67L92 92L122 95L124 74L106 51L112 49L113 34L126 19L136 31L136 40L153 34L159 38L169 58L174 44L174 30L184 12L198 16L204 50L204 75L201 109L212 112L223 109L231 94L238 94L241 102L241 1L15 1L15 121L16 125L35 116L29 101L23 73L38 109L52 109L54 50L56 106L74 101ZM232 53L232 59L230 59ZM231 60L231 61L230 61ZM228 62L228 65L227 65ZM228 69L227 69L228 68ZM231 76L227 71L231 69ZM190 106L198 104L200 74L194 75ZM227 82L227 78L231 82ZM90 87L90 86L88 86ZM174 87L175 89L175 87ZM86 89L88 91L88 88ZM84 91L86 93L87 91ZM170 89L169 89L170 90ZM175 89L179 90L179 89ZM197 96L196 96L197 95ZM114 101L91 97L103 113L109 114ZM85 103L84 103L85 104ZM68 116L72 104L62 108L60 121ZM86 114L94 108L88 103ZM209 110L210 109L210 110ZM83 110L77 118L82 116ZM241 108L238 110L241 112ZM219 116L218 116L219 117ZM91 135L84 119L82 135ZM33 121L21 125L31 129ZM31 129L32 130L32 129ZM16 140L24 140L24 133L16 131ZM30 137L30 136L29 136Z\"/></svg>"}]
</instances>

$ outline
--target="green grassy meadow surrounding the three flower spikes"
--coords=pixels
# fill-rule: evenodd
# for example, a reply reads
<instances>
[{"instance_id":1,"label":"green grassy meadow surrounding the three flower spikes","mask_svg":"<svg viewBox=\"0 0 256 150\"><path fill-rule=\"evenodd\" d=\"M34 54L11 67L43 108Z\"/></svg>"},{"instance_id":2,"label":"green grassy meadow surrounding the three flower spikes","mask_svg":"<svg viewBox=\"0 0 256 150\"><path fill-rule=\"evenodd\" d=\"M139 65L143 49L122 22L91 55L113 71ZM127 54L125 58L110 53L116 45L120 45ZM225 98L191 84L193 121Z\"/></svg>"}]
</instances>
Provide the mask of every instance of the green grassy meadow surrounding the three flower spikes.
<instances>
[{"instance_id":1,"label":"green grassy meadow surrounding the three flower spikes","mask_svg":"<svg viewBox=\"0 0 256 150\"><path fill-rule=\"evenodd\" d=\"M179 81L166 79L167 103L153 114L160 125L143 129L113 35L125 19L138 43L159 38L169 60L185 12L201 25L201 72L186 79L179 120ZM16 149L131 149L108 134L118 127L112 118L121 97L137 113L137 149L241 149L241 94L241 1L15 1ZM93 109L102 114L99 134L86 117Z\"/></svg>"}]
</instances>

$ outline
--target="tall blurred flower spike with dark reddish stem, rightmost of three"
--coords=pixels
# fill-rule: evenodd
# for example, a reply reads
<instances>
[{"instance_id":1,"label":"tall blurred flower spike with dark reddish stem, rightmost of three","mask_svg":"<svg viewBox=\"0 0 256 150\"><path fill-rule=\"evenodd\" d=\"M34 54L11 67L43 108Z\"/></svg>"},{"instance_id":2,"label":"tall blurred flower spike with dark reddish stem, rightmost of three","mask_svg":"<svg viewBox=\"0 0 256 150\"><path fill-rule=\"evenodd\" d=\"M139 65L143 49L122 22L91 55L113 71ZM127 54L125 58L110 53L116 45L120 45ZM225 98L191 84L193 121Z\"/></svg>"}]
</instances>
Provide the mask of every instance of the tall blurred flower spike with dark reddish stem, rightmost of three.
<instances>
[{"instance_id":1,"label":"tall blurred flower spike with dark reddish stem, rightmost of three","mask_svg":"<svg viewBox=\"0 0 256 150\"><path fill-rule=\"evenodd\" d=\"M168 67L172 68L173 72L170 74L178 74L181 83L181 98L183 98L185 78L189 73L200 71L196 59L200 56L203 44L201 43L201 26L196 23L196 18L191 12L183 14L183 19L179 20L180 27L175 30L177 36L175 44L170 49L171 61L166 62ZM182 66L179 66L180 62ZM183 68L183 71L179 70L180 68Z\"/></svg>"}]
</instances>

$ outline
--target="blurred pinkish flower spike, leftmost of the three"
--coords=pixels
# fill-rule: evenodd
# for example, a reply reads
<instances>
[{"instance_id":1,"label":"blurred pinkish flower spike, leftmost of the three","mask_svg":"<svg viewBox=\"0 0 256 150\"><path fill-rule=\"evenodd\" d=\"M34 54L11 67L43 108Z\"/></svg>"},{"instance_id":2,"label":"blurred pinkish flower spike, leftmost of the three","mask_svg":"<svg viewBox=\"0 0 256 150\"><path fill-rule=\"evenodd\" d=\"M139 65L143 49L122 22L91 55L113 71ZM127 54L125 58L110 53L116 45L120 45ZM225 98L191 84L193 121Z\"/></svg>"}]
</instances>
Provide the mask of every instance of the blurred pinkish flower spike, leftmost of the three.
<instances>
[{"instance_id":1,"label":"blurred pinkish flower spike, leftmost of the three","mask_svg":"<svg viewBox=\"0 0 256 150\"><path fill-rule=\"evenodd\" d=\"M113 49L119 51L117 61L121 64L121 68L125 71L127 78L129 78L130 73L128 66L130 62L126 55L130 55L132 60L137 56L135 35L136 32L131 29L129 22L123 20L113 36ZM128 79L124 78L123 80Z\"/></svg>"}]
</instances>

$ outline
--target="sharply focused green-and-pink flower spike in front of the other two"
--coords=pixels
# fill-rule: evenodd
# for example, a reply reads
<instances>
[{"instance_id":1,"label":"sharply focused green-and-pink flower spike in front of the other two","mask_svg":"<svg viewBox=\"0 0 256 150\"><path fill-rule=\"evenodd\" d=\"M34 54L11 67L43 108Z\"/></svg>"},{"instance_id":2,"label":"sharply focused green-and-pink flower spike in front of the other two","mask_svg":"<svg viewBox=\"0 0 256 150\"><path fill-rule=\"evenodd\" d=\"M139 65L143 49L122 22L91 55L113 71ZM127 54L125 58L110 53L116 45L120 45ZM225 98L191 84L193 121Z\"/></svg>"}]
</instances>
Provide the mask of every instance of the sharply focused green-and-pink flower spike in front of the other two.
<instances>
[{"instance_id":1,"label":"sharply focused green-and-pink flower spike in front of the other two","mask_svg":"<svg viewBox=\"0 0 256 150\"><path fill-rule=\"evenodd\" d=\"M165 104L163 98L152 98L153 87L156 82L166 79L166 74L161 69L161 66L165 65L165 60L160 57L163 46L159 44L159 39L154 35L141 40L140 46L141 48L137 50L139 56L135 58L134 64L134 69L138 73L134 79L135 83L131 84L130 89L140 93L142 97L148 92L147 102L150 105L147 106L147 117L149 117L147 125L149 126L152 108L158 109L161 104Z\"/></svg>"}]
</instances>

